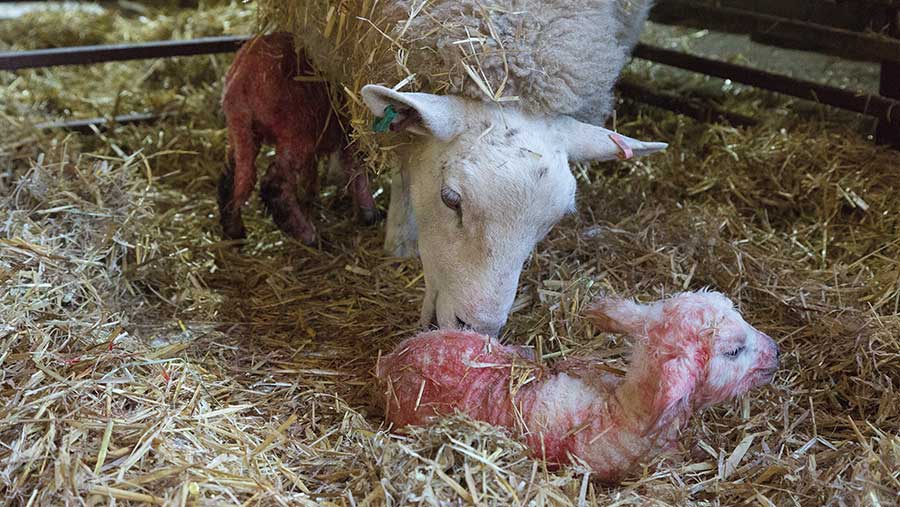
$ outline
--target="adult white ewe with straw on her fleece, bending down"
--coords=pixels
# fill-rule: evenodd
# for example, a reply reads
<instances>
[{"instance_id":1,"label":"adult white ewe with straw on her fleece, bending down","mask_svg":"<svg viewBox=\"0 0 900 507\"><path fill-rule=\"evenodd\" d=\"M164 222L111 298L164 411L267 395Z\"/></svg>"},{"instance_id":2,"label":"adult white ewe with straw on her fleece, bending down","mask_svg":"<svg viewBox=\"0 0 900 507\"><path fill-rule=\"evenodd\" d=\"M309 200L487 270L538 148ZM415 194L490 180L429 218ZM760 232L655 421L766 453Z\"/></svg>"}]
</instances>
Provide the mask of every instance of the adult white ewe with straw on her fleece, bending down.
<instances>
[{"instance_id":1,"label":"adult white ewe with straw on her fleece, bending down","mask_svg":"<svg viewBox=\"0 0 900 507\"><path fill-rule=\"evenodd\" d=\"M666 147L603 128L650 0L260 5L347 91L370 158L396 156L385 248L418 249L423 324L496 335L523 263L574 209L569 163ZM400 132L376 143L370 114Z\"/></svg>"}]
</instances>

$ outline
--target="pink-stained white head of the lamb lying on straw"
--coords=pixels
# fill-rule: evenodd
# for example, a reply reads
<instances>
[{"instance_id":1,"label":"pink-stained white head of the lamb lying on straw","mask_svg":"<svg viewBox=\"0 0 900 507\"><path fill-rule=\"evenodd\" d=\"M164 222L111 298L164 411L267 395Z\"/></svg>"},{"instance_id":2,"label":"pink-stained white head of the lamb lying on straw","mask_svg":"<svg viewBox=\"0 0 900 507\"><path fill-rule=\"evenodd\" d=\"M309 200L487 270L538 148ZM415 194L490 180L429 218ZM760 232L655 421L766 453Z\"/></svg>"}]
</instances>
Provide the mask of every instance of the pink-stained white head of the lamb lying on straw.
<instances>
[{"instance_id":1,"label":"pink-stained white head of the lamb lying on straw","mask_svg":"<svg viewBox=\"0 0 900 507\"><path fill-rule=\"evenodd\" d=\"M718 292L681 293L651 304L602 298L588 317L602 331L639 339L623 402L647 416L649 431L683 424L692 410L765 385L778 368L775 341Z\"/></svg>"}]
</instances>

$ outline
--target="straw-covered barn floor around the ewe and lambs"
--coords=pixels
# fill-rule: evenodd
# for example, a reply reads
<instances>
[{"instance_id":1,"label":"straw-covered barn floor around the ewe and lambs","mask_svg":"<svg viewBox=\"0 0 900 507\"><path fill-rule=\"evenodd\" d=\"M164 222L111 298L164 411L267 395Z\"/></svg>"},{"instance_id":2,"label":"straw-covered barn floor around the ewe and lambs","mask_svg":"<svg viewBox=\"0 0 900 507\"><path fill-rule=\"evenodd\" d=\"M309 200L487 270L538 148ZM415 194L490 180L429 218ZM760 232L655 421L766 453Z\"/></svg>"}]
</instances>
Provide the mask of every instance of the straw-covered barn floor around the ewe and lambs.
<instances>
[{"instance_id":1,"label":"straw-covered barn floor around the ewe and lambs","mask_svg":"<svg viewBox=\"0 0 900 507\"><path fill-rule=\"evenodd\" d=\"M0 22L0 47L255 23L251 8L227 3L202 15L28 16ZM621 366L627 342L579 317L593 295L710 286L779 341L783 369L772 386L696 416L680 451L606 488L578 468L548 471L463 418L383 432L372 370L415 332L418 261L385 257L382 226L354 225L333 187L315 205L320 249L286 240L256 200L243 252L221 241L217 101L229 62L0 75L8 504L900 501L900 153L841 115L799 115L746 89L725 102L764 120L747 129L621 104L620 130L672 147L576 169L579 212L529 261L504 339L540 343L547 361L591 352ZM32 126L146 109L178 116L93 135Z\"/></svg>"}]
</instances>

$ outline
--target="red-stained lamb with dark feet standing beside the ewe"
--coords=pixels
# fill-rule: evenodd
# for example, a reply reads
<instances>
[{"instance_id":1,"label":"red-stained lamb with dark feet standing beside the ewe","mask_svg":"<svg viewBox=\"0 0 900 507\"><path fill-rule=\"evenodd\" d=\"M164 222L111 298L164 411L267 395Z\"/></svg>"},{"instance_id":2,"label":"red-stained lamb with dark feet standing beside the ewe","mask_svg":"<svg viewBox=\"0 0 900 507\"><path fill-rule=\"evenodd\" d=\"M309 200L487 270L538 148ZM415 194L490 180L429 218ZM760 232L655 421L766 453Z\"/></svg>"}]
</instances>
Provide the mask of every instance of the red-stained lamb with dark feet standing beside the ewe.
<instances>
[{"instance_id":1,"label":"red-stained lamb with dark feet standing beside the ewe","mask_svg":"<svg viewBox=\"0 0 900 507\"><path fill-rule=\"evenodd\" d=\"M295 79L301 76L303 79ZM238 51L225 76L222 108L228 124L228 164L219 180L219 218L229 239L246 237L241 208L256 185L260 145L275 146L260 194L266 209L285 234L306 244L316 229L297 199L297 186L307 195L318 192L317 156L334 154L347 178L347 189L360 220L374 223L378 213L364 169L329 100L326 83L318 81L306 57L294 51L288 33L250 40Z\"/></svg>"}]
</instances>

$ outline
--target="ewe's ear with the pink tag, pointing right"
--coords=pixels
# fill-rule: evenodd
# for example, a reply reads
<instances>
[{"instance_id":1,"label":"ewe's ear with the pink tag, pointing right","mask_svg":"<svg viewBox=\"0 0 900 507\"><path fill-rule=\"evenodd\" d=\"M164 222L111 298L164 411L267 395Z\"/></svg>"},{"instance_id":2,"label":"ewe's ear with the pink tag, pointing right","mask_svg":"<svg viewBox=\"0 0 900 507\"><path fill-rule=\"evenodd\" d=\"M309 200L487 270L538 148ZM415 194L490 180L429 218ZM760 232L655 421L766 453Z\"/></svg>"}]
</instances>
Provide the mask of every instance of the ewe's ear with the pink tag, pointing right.
<instances>
[{"instance_id":1,"label":"ewe's ear with the pink tag, pointing right","mask_svg":"<svg viewBox=\"0 0 900 507\"><path fill-rule=\"evenodd\" d=\"M573 162L626 160L666 149L668 144L632 139L612 130L563 116L558 120L562 144Z\"/></svg>"}]
</instances>

